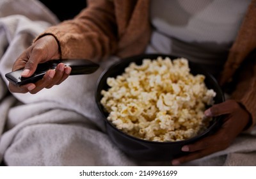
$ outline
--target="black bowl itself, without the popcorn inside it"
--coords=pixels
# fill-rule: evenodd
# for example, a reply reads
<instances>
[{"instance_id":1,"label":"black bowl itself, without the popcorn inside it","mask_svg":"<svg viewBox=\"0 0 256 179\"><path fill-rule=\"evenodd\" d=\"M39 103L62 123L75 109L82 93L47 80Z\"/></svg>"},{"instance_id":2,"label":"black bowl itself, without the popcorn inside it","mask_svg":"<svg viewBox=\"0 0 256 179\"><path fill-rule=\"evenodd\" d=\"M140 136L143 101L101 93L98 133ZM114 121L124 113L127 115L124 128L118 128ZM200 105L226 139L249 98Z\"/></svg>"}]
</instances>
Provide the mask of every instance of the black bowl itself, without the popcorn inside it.
<instances>
[{"instance_id":1,"label":"black bowl itself, without the popcorn inside it","mask_svg":"<svg viewBox=\"0 0 256 179\"><path fill-rule=\"evenodd\" d=\"M131 62L135 62L138 65L141 65L142 60L145 58L148 59L156 59L161 56L162 58L169 57L170 59L177 58L176 56L169 56L164 54L143 54L139 56L132 56L130 58L121 59L118 63L110 66L107 70L105 70L102 75L100 75L99 80L97 81L97 90L95 93L95 99L97 102L97 106L99 107L99 111L102 114L102 120L106 123L106 130L113 141L113 143L118 146L123 152L127 155L134 157L134 159L142 159L142 160L152 160L152 161L163 161L163 160L172 160L175 157L180 157L182 155L188 154L188 152L182 152L181 148L184 144L194 143L198 141L198 139L202 139L202 137L208 136L215 132L218 127L220 127L221 116L213 118L211 124L201 134L196 137L192 137L190 139L186 139L183 141L175 141L175 142L157 142L157 141L147 141L143 139L139 139L137 137L130 136L129 134L125 134L121 130L118 130L115 125L111 123L111 121L107 120L108 113L104 110L102 104L100 104L100 100L102 95L100 91L102 89L107 90L109 88L106 80L108 77L116 77L117 75L121 75L124 72L124 69L129 66ZM223 92L221 91L218 82L214 77L206 72L204 68L201 66L192 63L189 61L190 72L195 74L205 75L205 84L207 88L214 89L216 92L216 97L214 97L215 104L221 103L225 100Z\"/></svg>"}]
</instances>

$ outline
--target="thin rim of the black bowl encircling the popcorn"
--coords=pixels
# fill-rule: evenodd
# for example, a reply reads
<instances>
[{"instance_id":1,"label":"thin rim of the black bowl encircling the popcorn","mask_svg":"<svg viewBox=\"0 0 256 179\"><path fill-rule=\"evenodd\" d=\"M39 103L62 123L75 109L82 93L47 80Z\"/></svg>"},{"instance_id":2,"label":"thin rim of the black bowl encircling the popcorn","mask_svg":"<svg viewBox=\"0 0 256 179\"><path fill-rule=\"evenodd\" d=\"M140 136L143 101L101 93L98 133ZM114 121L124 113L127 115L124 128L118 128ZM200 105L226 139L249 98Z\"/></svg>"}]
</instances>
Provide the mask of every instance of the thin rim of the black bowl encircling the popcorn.
<instances>
[{"instance_id":1,"label":"thin rim of the black bowl encircling the popcorn","mask_svg":"<svg viewBox=\"0 0 256 179\"><path fill-rule=\"evenodd\" d=\"M115 63L110 65L108 68L106 68L100 74L99 78L97 79L96 90L95 90L95 102L97 104L97 109L98 109L100 115L102 116L105 123L106 124L108 123L108 125L111 128L113 128L116 132L120 133L121 135L123 135L126 138L132 139L132 141L136 141L137 143L148 143L148 144L170 144L170 143L172 143L172 144L180 144L180 143L190 143L192 141L195 141L196 139L200 139L201 137L204 137L205 134L209 133L212 130L212 128L214 128L214 127L216 127L217 125L220 124L221 119L223 118L223 116L213 117L212 118L212 121L213 121L212 124L209 127L207 127L207 129L204 130L204 132L201 132L200 134L198 134L194 137L191 137L189 139L184 139L184 140L181 140L181 141L149 141L149 140L146 140L146 139L141 139L139 137L132 136L130 134L127 134L127 133L123 132L122 130L119 130L104 115L103 107L100 104L100 98L98 98L98 96L99 96L98 95L99 94L99 90L98 90L99 89L99 84L100 84L100 82L102 82L102 78L104 77L104 75L106 75L106 73L109 72L109 70L115 69L116 66L119 66L122 63L124 63L124 61L130 61L130 63L131 63L132 59L138 59L138 58L141 58L141 60L145 59L145 58L147 58L147 59L156 59L159 56L161 56L162 58L169 57L170 59L182 58L182 57L179 57L179 56L174 56L172 54L155 54L155 53L154 54L139 54L139 55L135 55L135 56L129 56L127 58L120 58L118 61L116 61ZM188 59L188 58L186 58L186 59ZM188 59L188 61L189 61L189 59ZM212 74L210 74L209 72L204 70L204 68L202 68L202 66L200 64L194 63L193 61L189 61L189 63L193 63L194 65L196 65L198 68L200 68L200 70L202 70L207 75L207 77L211 78L211 80L214 81L216 87L219 89L219 92L220 92L220 95L221 95L221 101L224 102L225 101L225 95L223 94L223 91L221 90L220 85L218 84L218 81L216 80L216 78ZM108 132L108 130L107 130L107 132Z\"/></svg>"}]
</instances>

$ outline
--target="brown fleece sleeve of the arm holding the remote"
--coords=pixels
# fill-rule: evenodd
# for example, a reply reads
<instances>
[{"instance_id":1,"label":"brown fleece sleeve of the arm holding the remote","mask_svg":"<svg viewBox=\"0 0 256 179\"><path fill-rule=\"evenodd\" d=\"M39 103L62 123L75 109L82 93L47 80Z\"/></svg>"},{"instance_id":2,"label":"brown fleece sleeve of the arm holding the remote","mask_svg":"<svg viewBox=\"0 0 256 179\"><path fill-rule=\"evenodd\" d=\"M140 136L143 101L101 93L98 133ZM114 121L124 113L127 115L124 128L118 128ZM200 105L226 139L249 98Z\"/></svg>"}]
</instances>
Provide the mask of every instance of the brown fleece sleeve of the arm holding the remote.
<instances>
[{"instance_id":1,"label":"brown fleece sleeve of the arm holding the remote","mask_svg":"<svg viewBox=\"0 0 256 179\"><path fill-rule=\"evenodd\" d=\"M49 27L35 40L45 35L56 38L63 59L97 60L114 54L118 37L113 1L90 0L74 19Z\"/></svg>"}]
</instances>

